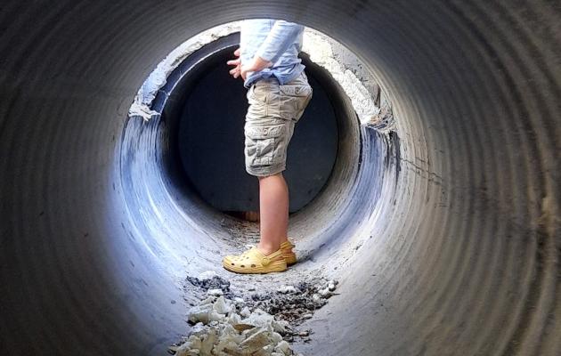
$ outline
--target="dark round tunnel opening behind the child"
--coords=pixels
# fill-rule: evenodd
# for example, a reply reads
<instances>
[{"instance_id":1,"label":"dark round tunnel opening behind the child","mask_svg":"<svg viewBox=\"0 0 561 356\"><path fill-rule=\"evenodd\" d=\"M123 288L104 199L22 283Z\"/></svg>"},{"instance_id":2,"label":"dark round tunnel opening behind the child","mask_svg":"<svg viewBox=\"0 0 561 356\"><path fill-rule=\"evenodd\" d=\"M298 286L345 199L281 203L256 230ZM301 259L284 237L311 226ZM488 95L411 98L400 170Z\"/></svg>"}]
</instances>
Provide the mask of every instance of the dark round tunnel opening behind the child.
<instances>
[{"instance_id":1,"label":"dark round tunnel opening behind the child","mask_svg":"<svg viewBox=\"0 0 561 356\"><path fill-rule=\"evenodd\" d=\"M256 180L244 170L242 154L247 89L229 76L225 66L235 49L227 44L239 37L230 36L224 38L224 48L188 72L183 73L187 64L175 69L183 75L176 83L168 80L173 91L167 94L162 120L171 133L177 132L168 136L170 150L179 150L170 152L170 164L183 167L184 175L177 179L190 182L199 197L217 210L243 215L258 209L258 192ZM330 100L339 95L336 84L307 57L304 63L314 96L289 146L284 175L291 192L290 212L300 210L321 191L337 157L337 119Z\"/></svg>"}]
</instances>

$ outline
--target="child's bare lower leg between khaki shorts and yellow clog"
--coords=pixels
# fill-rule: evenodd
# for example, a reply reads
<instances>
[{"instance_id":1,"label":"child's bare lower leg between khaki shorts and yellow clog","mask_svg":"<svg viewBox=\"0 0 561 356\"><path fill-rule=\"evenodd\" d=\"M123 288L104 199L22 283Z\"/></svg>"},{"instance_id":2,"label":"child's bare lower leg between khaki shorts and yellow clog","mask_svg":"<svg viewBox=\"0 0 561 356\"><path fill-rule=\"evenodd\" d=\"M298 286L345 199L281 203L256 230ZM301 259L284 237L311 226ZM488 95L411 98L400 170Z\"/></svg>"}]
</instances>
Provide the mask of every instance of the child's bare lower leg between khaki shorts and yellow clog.
<instances>
[{"instance_id":1,"label":"child's bare lower leg between khaki shorts and yellow clog","mask_svg":"<svg viewBox=\"0 0 561 356\"><path fill-rule=\"evenodd\" d=\"M282 173L259 177L261 241L257 248L271 255L287 240L289 230L289 187Z\"/></svg>"}]
</instances>

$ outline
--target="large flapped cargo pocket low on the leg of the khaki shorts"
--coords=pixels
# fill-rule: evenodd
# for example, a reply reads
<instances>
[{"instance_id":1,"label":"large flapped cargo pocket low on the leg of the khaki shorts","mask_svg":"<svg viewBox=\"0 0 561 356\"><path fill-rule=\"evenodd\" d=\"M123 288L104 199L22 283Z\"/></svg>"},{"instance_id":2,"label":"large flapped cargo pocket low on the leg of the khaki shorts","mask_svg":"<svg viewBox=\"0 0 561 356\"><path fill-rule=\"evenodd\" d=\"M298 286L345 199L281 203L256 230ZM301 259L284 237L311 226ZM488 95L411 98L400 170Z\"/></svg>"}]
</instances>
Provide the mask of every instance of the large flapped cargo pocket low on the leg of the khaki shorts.
<instances>
[{"instance_id":1,"label":"large flapped cargo pocket low on the leg of the khaki shorts","mask_svg":"<svg viewBox=\"0 0 561 356\"><path fill-rule=\"evenodd\" d=\"M270 166L280 154L286 125L246 126L246 159L249 166Z\"/></svg>"}]
</instances>

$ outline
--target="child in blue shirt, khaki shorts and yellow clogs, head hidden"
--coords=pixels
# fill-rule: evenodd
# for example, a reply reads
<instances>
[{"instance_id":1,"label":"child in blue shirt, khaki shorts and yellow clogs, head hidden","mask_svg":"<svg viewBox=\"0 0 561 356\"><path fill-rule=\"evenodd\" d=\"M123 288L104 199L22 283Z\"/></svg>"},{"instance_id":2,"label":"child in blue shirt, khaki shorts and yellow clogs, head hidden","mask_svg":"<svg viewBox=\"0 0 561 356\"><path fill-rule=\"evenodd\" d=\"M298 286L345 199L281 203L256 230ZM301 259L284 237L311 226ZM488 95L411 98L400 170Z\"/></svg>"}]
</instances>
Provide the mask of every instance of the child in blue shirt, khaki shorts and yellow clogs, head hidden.
<instances>
[{"instance_id":1,"label":"child in blue shirt, khaki shorts and yellow clogs, head hidden","mask_svg":"<svg viewBox=\"0 0 561 356\"><path fill-rule=\"evenodd\" d=\"M259 180L261 239L241 255L224 257L224 268L237 273L286 271L296 263L288 239L289 188L282 175L294 127L312 98L305 66L298 58L304 27L284 20L245 20L239 57L228 61L232 77L248 88L245 162Z\"/></svg>"}]
</instances>

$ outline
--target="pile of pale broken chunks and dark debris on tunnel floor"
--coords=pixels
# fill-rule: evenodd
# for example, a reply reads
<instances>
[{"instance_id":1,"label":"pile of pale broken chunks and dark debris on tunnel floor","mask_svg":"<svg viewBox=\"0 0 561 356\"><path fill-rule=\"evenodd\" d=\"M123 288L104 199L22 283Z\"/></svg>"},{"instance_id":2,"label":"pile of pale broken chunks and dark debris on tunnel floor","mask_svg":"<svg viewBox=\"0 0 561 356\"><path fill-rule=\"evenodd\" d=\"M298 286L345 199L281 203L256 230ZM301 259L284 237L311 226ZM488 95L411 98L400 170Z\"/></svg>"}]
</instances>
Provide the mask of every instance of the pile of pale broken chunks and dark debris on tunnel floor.
<instances>
[{"instance_id":1,"label":"pile of pale broken chunks and dark debris on tunnel floor","mask_svg":"<svg viewBox=\"0 0 561 356\"><path fill-rule=\"evenodd\" d=\"M244 299L210 272L186 280L202 300L188 312L189 336L169 347L176 356L302 356L289 342L295 337L308 342L311 331L295 327L325 305L337 287L337 281L316 279Z\"/></svg>"}]
</instances>

